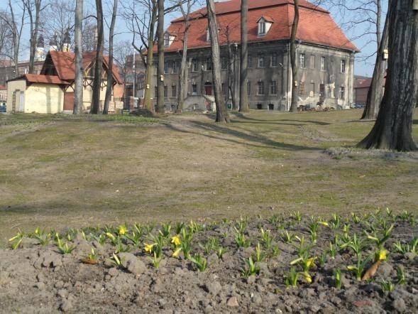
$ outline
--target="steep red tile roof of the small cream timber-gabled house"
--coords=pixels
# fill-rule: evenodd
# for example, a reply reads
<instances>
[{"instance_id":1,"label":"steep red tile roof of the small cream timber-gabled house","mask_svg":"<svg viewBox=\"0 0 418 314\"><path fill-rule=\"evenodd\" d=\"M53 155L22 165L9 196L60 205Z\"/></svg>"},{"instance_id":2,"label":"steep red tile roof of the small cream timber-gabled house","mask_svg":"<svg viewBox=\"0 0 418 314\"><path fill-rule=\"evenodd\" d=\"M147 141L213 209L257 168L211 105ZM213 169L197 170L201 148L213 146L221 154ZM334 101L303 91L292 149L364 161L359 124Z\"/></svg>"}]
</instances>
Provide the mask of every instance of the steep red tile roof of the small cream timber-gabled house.
<instances>
[{"instance_id":1,"label":"steep red tile roof of the small cream timber-gabled house","mask_svg":"<svg viewBox=\"0 0 418 314\"><path fill-rule=\"evenodd\" d=\"M74 81L75 80L75 53L65 53L62 51L50 51L50 56L53 60L57 75L61 80ZM95 52L83 53L83 68L86 70L92 66L96 58ZM106 68L109 67L109 57L103 58ZM112 73L118 84L122 84L121 77L119 76L118 67L113 66Z\"/></svg>"}]
</instances>

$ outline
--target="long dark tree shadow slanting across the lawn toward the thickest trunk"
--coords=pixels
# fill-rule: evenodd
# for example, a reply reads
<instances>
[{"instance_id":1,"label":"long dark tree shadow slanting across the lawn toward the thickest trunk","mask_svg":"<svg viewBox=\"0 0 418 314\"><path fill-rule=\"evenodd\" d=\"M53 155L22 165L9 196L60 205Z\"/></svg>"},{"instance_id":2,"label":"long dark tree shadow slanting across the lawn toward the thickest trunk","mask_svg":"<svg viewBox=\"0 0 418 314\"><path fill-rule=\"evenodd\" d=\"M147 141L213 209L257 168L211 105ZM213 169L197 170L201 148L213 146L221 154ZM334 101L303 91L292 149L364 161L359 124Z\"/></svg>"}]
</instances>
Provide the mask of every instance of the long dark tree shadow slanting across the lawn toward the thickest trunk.
<instances>
[{"instance_id":1,"label":"long dark tree shadow slanting across the lawn toward the thickest trunk","mask_svg":"<svg viewBox=\"0 0 418 314\"><path fill-rule=\"evenodd\" d=\"M277 148L277 149L286 149L289 151L318 151L322 149L319 147L300 146L300 145L294 145L294 144L287 144L284 142L273 141L260 134L255 134L254 132L251 132L250 134L248 134L242 131L237 131L237 130L229 129L224 126L220 126L219 124L204 123L200 121L189 121L189 126L194 127L194 129L196 129L197 131L187 131L185 129L180 129L172 124L167 124L167 128L172 129L173 131L179 131L179 132L188 133L188 134L198 134L202 136L207 136L210 139L221 139L224 141L229 141L234 144L244 144L244 145L250 145L250 146L258 147L258 148ZM207 132L209 131L209 132L213 132L216 135L207 134L207 133L199 132L199 131L207 131ZM233 136L233 138L231 139L228 136Z\"/></svg>"}]
</instances>

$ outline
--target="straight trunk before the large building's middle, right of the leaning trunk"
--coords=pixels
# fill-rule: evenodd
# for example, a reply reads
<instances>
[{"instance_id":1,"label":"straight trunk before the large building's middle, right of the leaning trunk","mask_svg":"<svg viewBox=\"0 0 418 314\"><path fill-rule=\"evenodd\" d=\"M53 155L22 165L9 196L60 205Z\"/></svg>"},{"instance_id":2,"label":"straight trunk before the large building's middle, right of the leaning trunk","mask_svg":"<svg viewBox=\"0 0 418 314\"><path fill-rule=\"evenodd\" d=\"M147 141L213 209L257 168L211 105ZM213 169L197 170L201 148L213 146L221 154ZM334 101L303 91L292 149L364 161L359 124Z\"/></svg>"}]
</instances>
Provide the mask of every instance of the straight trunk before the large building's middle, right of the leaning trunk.
<instances>
[{"instance_id":1,"label":"straight trunk before the large building's middle, right of the leaning trunk","mask_svg":"<svg viewBox=\"0 0 418 314\"><path fill-rule=\"evenodd\" d=\"M239 72L239 111L248 112L248 0L241 1L241 60Z\"/></svg>"}]
</instances>

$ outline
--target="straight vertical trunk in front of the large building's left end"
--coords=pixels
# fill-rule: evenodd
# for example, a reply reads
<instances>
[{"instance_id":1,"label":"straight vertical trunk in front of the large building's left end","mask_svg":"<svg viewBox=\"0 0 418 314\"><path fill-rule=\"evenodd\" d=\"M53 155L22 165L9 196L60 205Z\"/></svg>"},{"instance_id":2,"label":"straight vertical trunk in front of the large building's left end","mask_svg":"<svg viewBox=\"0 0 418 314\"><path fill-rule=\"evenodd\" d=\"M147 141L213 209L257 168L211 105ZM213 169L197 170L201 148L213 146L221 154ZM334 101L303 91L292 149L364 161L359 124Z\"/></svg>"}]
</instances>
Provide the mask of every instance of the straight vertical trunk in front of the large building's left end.
<instances>
[{"instance_id":1,"label":"straight vertical trunk in front of the large building's left end","mask_svg":"<svg viewBox=\"0 0 418 314\"><path fill-rule=\"evenodd\" d=\"M158 0L157 23L158 67L157 67L157 112L164 113L164 0Z\"/></svg>"}]
</instances>

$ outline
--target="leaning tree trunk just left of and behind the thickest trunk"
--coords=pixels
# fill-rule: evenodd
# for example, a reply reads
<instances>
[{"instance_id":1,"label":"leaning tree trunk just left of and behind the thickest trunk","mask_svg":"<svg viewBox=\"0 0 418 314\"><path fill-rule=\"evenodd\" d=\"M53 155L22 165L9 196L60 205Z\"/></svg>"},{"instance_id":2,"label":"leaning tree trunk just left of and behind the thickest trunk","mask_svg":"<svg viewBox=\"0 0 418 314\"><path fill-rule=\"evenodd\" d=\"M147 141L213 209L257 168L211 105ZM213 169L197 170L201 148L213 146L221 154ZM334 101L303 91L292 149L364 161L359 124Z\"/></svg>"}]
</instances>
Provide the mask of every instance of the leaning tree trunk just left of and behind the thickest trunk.
<instances>
[{"instance_id":1,"label":"leaning tree trunk just left of and behind the thickest trunk","mask_svg":"<svg viewBox=\"0 0 418 314\"><path fill-rule=\"evenodd\" d=\"M378 46L378 55L376 57L375 70L367 93L365 108L361 119L373 120L378 117L380 102L383 97L383 82L385 81L386 60L384 60L384 50L387 49L387 33L389 26L389 18L386 17L385 27L383 28L383 36Z\"/></svg>"}]
</instances>

